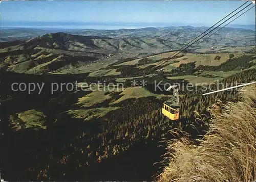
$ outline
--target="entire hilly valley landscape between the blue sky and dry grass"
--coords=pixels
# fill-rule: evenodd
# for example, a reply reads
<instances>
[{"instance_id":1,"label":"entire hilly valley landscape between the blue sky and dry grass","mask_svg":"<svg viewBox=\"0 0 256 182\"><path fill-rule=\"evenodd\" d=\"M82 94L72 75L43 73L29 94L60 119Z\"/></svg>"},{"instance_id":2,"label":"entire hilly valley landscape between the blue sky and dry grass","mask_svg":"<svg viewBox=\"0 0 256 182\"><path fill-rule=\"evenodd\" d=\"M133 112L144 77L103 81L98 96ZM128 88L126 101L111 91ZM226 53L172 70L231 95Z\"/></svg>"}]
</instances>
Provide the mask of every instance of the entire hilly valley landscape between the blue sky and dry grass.
<instances>
[{"instance_id":1,"label":"entire hilly valley landscape between the blue sky and dry grass","mask_svg":"<svg viewBox=\"0 0 256 182\"><path fill-rule=\"evenodd\" d=\"M217 98L238 100L237 90L202 96L209 91L202 90L204 84L217 88L219 82L231 86L256 80L255 50L247 53L255 38L244 39L254 31L225 28L196 47L177 51L205 29L42 32L2 42L3 178L154 180L161 172L163 141L174 138L170 130L198 139L208 129L208 106ZM29 94L13 91L13 83L45 85L40 94L39 88ZM52 83L78 83L78 90L51 92ZM193 91L179 91L178 121L161 114L172 94L163 89L166 83L193 84ZM197 122L195 111L204 114L205 124Z\"/></svg>"}]
</instances>

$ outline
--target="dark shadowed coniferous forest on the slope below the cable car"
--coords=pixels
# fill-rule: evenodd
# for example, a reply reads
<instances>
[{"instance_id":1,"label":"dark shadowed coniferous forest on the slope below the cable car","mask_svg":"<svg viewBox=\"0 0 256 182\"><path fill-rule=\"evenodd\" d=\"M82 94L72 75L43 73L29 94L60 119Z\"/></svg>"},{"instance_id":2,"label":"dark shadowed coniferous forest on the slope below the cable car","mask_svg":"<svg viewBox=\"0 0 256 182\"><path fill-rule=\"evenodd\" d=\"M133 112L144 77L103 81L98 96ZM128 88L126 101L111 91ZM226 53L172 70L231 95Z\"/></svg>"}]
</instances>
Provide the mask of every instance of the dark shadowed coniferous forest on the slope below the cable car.
<instances>
[{"instance_id":1,"label":"dark shadowed coniferous forest on the slope below the cable car","mask_svg":"<svg viewBox=\"0 0 256 182\"><path fill-rule=\"evenodd\" d=\"M25 80L25 77L30 82L30 79L33 80L36 76L11 72L1 74L2 77L13 79L2 81L1 84L6 86L14 80ZM86 77L86 75L83 76ZM47 80L57 82L67 79L65 76L50 78L42 75L38 75L38 78L46 82ZM249 69L223 79L222 83L230 85L235 82L245 83L253 80L255 80L255 69ZM63 91L55 95L45 92L43 97L36 94L18 96L21 93L13 93L8 89L1 90L1 92L1 95L6 97L6 101L1 105L1 110L4 111L1 113L4 118L1 129L5 132L4 137L1 138L3 144L1 152L6 156L2 159L2 165L5 165L4 173L10 180L33 180L35 178L59 180L60 176L62 180L72 180L74 175L76 180L105 180L113 179L114 174L118 179L127 179L130 176L132 180L136 178L136 173L133 173L135 176L131 176L134 165L138 167L134 170L138 171L145 170L142 166L151 166L146 170L145 175L137 176L138 180L145 177L150 180L151 174L156 173L159 168L159 165L152 166L152 164L159 162L164 152L163 147L158 147L161 145L159 142L164 138L173 137L168 131L180 128L191 134L191 137L198 138L207 129L207 124L198 124L194 111L206 114L205 117L207 117L206 109L215 102L216 98L223 101L236 100L236 90L205 96L202 95L203 91L200 89L197 92L187 92L180 99L181 119L170 121L161 114L162 103L167 99L167 95L162 99L156 99L154 96L129 98L117 103L116 107L119 109L103 117L82 121L68 114L59 113L74 109L71 103L77 95L82 95L84 92L70 94ZM10 93L14 95L8 95ZM16 98L8 101L8 97ZM120 96L113 95L112 99L118 97ZM35 99L37 102L33 101ZM110 101L105 100L97 107L106 107ZM14 105L13 102L16 104ZM17 119L14 113L24 109L42 111L46 118L43 125L47 129L27 128L13 132L10 127L13 123L10 121ZM192 127L193 125L197 125L197 129ZM129 159L136 161L136 164L127 166ZM120 163L129 172L125 173L124 169L119 169L117 166L120 166ZM115 172L104 171L105 166ZM13 174L12 170L18 172ZM101 176L96 175L99 170L102 170ZM122 171L120 176L116 175L118 171L119 173Z\"/></svg>"}]
</instances>

